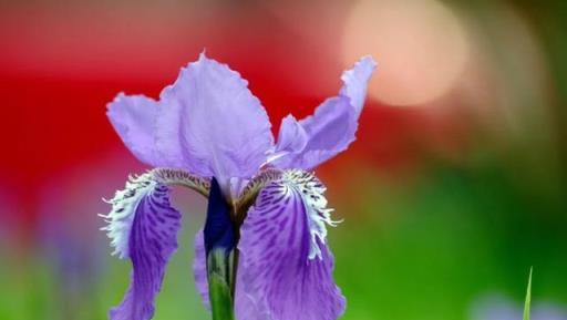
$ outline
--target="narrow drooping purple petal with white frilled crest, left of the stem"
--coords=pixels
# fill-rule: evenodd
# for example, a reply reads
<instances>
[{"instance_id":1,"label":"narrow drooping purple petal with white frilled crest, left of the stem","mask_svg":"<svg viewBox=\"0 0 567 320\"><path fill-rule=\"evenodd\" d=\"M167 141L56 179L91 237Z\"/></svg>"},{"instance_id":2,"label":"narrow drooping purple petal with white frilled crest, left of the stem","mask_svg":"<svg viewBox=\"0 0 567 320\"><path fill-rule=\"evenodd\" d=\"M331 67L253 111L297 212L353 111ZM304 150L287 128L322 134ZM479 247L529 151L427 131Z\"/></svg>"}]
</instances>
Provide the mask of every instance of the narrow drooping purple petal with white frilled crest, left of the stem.
<instances>
[{"instance_id":1,"label":"narrow drooping purple petal with white frilled crest, left of the stem","mask_svg":"<svg viewBox=\"0 0 567 320\"><path fill-rule=\"evenodd\" d=\"M181 214L169 204L169 189L144 174L126 184L110 202L104 216L115 254L132 260L130 288L122 303L109 312L112 320L147 320L154 314L169 256L177 248Z\"/></svg>"}]
</instances>

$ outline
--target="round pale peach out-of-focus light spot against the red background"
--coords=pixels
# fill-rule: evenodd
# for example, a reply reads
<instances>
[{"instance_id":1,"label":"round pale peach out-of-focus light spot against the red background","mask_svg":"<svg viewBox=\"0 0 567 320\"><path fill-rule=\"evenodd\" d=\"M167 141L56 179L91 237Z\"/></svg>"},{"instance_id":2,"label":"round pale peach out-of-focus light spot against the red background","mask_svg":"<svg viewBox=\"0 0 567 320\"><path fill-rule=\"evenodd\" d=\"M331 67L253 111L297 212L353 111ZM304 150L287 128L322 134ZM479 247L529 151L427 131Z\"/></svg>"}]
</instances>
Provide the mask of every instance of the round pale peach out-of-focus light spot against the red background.
<instances>
[{"instance_id":1,"label":"round pale peach out-of-focus light spot against the red background","mask_svg":"<svg viewBox=\"0 0 567 320\"><path fill-rule=\"evenodd\" d=\"M362 0L343 37L344 63L361 54L378 61L369 94L391 105L424 104L447 93L468 58L462 21L434 0Z\"/></svg>"}]
</instances>

